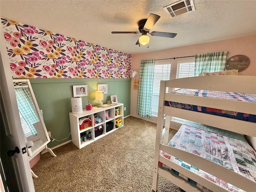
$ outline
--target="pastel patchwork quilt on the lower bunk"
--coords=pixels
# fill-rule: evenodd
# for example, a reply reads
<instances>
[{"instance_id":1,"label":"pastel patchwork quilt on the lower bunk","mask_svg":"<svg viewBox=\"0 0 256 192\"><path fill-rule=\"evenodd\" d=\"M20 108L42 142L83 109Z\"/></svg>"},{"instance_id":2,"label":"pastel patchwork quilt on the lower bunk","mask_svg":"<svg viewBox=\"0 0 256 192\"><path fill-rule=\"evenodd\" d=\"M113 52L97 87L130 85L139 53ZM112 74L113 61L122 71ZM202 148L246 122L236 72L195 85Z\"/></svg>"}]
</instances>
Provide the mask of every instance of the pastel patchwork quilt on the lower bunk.
<instances>
[{"instance_id":1,"label":"pastel patchwork quilt on the lower bunk","mask_svg":"<svg viewBox=\"0 0 256 192\"><path fill-rule=\"evenodd\" d=\"M187 121L170 140L168 146L211 160L256 182L256 152L241 134ZM228 184L165 152L161 152L161 155L231 192L244 192L244 190ZM174 176L186 180L196 188L200 188L204 192L210 192L204 186L194 182L192 178L182 176L179 172L161 162L158 163L158 166L170 171Z\"/></svg>"}]
</instances>

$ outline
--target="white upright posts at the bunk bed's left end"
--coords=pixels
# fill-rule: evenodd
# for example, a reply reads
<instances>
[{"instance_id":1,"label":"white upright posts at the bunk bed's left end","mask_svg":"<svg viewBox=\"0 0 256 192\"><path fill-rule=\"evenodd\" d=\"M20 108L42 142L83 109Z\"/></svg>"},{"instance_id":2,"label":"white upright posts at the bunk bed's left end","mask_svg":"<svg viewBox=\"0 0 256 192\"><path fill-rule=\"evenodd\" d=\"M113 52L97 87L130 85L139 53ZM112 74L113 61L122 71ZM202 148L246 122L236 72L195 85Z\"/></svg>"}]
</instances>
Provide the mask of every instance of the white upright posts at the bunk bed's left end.
<instances>
[{"instance_id":1,"label":"white upright posts at the bunk bed's left end","mask_svg":"<svg viewBox=\"0 0 256 192\"><path fill-rule=\"evenodd\" d=\"M164 92L165 92L165 81L160 81L160 93L164 93ZM159 104L158 104L158 118L157 118L157 128L156 128L156 148L155 148L155 161L154 161L153 186L152 186L152 190L154 192L157 192L157 186L158 186L158 161L159 161L159 154L160 154L160 144L162 142L162 130L163 130L162 119L164 118L163 106L164 106L164 94L160 94L159 95ZM168 116L168 117L169 118L167 118L166 121L169 122L169 126L170 126L170 116ZM165 133L169 132L169 126L168 126L168 130L166 130L167 128L164 128ZM168 142L168 136L167 136L167 139L165 139L164 141Z\"/></svg>"}]
</instances>

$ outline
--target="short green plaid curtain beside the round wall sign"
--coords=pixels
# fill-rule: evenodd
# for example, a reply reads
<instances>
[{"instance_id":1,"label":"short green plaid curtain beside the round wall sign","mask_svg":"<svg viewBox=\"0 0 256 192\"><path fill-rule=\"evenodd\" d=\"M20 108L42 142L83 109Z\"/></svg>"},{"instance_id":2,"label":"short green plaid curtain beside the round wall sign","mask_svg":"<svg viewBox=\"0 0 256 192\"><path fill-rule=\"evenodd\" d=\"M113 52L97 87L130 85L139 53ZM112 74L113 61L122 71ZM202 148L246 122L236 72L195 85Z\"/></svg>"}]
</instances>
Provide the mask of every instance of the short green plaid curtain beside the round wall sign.
<instances>
[{"instance_id":1,"label":"short green plaid curtain beside the round wall sign","mask_svg":"<svg viewBox=\"0 0 256 192\"><path fill-rule=\"evenodd\" d=\"M227 51L195 55L195 76L202 72L224 71Z\"/></svg>"}]
</instances>

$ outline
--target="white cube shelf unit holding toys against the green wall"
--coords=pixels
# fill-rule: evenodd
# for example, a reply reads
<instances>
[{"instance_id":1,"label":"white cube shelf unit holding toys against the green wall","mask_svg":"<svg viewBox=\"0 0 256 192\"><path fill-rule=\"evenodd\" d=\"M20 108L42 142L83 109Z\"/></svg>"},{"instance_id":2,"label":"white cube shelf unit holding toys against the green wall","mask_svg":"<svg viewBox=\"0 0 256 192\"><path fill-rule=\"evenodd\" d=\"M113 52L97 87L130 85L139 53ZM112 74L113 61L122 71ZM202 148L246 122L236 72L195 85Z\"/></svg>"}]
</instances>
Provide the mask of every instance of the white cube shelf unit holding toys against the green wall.
<instances>
[{"instance_id":1,"label":"white cube shelf unit holding toys against the green wall","mask_svg":"<svg viewBox=\"0 0 256 192\"><path fill-rule=\"evenodd\" d=\"M119 109L119 114L116 115L115 108ZM106 111L108 111L108 119L106 119ZM124 104L104 104L103 107L93 107L92 110L83 110L82 113L73 114L69 113L70 119L70 129L71 129L71 138L72 142L80 149L84 146L106 136L107 134L117 130L118 128L124 125ZM94 122L94 116L102 118L102 122ZM88 124L85 124L82 129L80 129L80 123L84 118L89 118L91 120L91 126L88 127ZM82 120L81 120L82 119ZM115 126L115 121L117 119L122 120L122 124L117 127ZM89 121L90 121L89 120ZM88 121L88 120L87 120ZM90 123L89 123L90 125ZM98 131L98 126L102 126L100 131ZM89 132L91 138L89 139ZM102 132L102 134L101 134ZM86 137L86 141L84 141Z\"/></svg>"}]
</instances>

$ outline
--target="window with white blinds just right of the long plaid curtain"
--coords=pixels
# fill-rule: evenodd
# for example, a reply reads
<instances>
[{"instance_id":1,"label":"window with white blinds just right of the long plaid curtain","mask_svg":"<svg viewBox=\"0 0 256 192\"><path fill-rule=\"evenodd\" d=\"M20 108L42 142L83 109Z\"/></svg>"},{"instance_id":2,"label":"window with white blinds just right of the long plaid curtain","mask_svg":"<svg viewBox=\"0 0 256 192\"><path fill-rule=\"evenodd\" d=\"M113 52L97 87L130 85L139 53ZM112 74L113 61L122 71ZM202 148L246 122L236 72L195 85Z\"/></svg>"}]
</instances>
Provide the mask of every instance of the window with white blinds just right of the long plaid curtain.
<instances>
[{"instance_id":1,"label":"window with white blinds just right of the long plaid curtain","mask_svg":"<svg viewBox=\"0 0 256 192\"><path fill-rule=\"evenodd\" d=\"M158 114L160 81L161 80L169 80L170 72L171 72L170 62L155 62L153 90L152 90L152 106L151 106L151 116L152 117L157 117L157 114Z\"/></svg>"}]
</instances>

